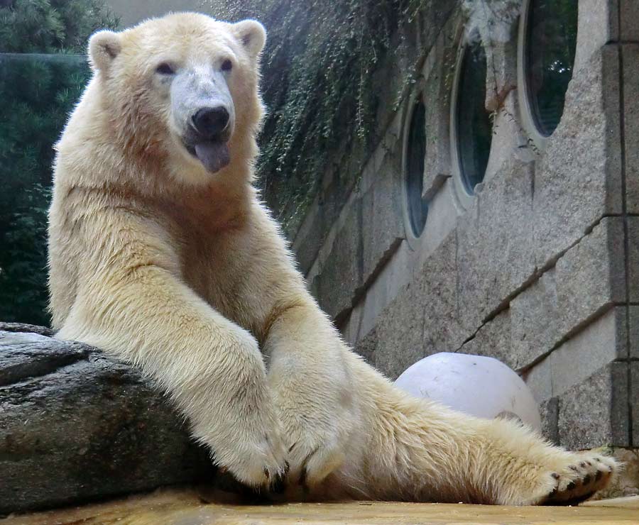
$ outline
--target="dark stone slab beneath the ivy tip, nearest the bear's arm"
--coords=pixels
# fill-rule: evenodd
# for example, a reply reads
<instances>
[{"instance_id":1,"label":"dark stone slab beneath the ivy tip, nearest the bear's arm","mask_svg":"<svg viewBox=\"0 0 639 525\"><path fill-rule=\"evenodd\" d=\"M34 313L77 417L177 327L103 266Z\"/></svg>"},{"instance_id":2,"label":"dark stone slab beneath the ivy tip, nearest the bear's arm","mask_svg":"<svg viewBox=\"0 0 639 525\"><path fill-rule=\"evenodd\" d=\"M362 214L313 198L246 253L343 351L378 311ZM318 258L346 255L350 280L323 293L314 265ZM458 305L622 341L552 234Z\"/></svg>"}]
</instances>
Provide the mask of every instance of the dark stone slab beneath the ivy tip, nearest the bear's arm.
<instances>
[{"instance_id":1,"label":"dark stone slab beneath the ivy tip, nearest the bear's arm","mask_svg":"<svg viewBox=\"0 0 639 525\"><path fill-rule=\"evenodd\" d=\"M341 226L315 277L317 301L329 316L338 320L351 309L356 290L363 284L361 200L352 201Z\"/></svg>"}]
</instances>

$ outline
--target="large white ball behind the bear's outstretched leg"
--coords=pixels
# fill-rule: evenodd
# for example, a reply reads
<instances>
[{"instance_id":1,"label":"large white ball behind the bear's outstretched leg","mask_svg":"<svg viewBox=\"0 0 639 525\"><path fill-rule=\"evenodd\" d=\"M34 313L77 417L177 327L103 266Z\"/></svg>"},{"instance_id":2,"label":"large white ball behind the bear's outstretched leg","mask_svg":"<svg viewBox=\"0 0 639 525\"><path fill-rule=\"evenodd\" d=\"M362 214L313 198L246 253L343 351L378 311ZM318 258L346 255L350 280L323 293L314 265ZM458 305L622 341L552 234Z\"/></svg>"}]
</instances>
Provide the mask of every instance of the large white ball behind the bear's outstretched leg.
<instances>
[{"instance_id":1,"label":"large white ball behind the bear's outstretched leg","mask_svg":"<svg viewBox=\"0 0 639 525\"><path fill-rule=\"evenodd\" d=\"M532 392L513 370L493 358L436 353L408 367L395 385L465 414L488 419L506 416L541 430Z\"/></svg>"}]
</instances>

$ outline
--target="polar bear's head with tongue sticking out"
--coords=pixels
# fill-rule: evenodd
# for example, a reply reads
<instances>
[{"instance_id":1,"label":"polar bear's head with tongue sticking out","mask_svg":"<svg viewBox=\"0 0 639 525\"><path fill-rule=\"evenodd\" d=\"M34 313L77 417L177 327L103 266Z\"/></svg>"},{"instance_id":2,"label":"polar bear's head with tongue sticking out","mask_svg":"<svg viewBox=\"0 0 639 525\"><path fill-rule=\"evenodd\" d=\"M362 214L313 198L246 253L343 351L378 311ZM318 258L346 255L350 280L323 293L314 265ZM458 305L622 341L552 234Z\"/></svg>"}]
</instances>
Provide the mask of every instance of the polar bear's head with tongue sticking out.
<instances>
[{"instance_id":1,"label":"polar bear's head with tongue sticking out","mask_svg":"<svg viewBox=\"0 0 639 525\"><path fill-rule=\"evenodd\" d=\"M205 182L246 157L262 116L261 23L174 13L89 40L89 60L116 140Z\"/></svg>"}]
</instances>

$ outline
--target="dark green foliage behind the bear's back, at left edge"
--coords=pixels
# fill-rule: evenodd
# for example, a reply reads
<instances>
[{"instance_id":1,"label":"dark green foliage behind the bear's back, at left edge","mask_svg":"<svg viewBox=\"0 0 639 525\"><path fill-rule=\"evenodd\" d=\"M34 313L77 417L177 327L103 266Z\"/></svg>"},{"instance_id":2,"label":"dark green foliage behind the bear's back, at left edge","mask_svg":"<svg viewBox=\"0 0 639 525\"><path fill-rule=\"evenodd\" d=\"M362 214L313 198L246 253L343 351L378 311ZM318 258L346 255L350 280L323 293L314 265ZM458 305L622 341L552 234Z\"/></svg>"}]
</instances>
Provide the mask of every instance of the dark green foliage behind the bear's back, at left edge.
<instances>
[{"instance_id":1,"label":"dark green foliage behind the bear's back, at left edge","mask_svg":"<svg viewBox=\"0 0 639 525\"><path fill-rule=\"evenodd\" d=\"M53 144L89 78L78 53L117 21L97 0L1 5L0 319L46 325Z\"/></svg>"}]
</instances>

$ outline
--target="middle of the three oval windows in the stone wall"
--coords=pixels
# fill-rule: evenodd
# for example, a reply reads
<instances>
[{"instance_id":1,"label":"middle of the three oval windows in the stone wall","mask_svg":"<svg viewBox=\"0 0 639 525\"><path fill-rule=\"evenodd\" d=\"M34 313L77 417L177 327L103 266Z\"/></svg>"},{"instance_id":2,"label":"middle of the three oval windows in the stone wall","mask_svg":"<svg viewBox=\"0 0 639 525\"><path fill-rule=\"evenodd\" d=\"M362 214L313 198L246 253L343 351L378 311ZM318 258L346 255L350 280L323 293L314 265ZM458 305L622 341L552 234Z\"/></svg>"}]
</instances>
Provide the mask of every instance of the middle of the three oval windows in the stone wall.
<instances>
[{"instance_id":1,"label":"middle of the three oval windows in the stone wall","mask_svg":"<svg viewBox=\"0 0 639 525\"><path fill-rule=\"evenodd\" d=\"M455 109L457 154L461 181L472 195L484 180L493 140L491 115L486 111L486 52L479 38L464 46L460 67Z\"/></svg>"}]
</instances>

